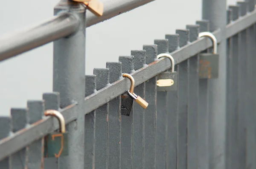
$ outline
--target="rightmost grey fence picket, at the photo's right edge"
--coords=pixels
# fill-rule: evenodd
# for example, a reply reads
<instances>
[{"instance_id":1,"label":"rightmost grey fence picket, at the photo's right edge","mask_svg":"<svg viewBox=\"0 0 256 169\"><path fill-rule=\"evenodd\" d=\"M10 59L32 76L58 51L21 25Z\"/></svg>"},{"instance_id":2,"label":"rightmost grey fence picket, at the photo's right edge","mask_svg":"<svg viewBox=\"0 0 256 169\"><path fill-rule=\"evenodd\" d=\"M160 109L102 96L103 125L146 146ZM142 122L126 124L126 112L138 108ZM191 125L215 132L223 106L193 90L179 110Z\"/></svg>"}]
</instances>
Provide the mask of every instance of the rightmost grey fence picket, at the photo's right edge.
<instances>
[{"instance_id":1,"label":"rightmost grey fence picket, at the photo's right edge","mask_svg":"<svg viewBox=\"0 0 256 169\"><path fill-rule=\"evenodd\" d=\"M246 0L248 3L247 10L248 12L252 12L255 7L254 0ZM254 62L255 62L255 25L251 25L247 29L247 56L246 56L246 79L247 79L247 86L246 86L246 95L247 99L247 111L246 113L246 168L256 168L256 135L255 135L255 120L256 115L254 113L255 110L255 93L253 90L255 88L255 78L253 79L253 72L255 70Z\"/></svg>"}]
</instances>

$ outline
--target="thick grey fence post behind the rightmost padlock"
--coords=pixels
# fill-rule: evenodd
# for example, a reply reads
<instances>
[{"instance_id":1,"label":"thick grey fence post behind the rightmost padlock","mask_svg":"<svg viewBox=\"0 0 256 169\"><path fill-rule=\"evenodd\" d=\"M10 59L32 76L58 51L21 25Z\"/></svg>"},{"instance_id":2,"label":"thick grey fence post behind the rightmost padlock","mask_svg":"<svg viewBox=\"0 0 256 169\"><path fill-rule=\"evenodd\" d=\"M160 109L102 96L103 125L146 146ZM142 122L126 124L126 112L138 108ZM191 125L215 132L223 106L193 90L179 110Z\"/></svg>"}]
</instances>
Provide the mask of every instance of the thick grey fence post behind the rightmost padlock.
<instances>
[{"instance_id":1,"label":"thick grey fence post behind the rightmost padlock","mask_svg":"<svg viewBox=\"0 0 256 169\"><path fill-rule=\"evenodd\" d=\"M208 81L209 92L209 168L225 169L226 141L226 4L227 0L203 0L202 18L209 20L210 31L221 28L218 45L219 77Z\"/></svg>"}]
</instances>

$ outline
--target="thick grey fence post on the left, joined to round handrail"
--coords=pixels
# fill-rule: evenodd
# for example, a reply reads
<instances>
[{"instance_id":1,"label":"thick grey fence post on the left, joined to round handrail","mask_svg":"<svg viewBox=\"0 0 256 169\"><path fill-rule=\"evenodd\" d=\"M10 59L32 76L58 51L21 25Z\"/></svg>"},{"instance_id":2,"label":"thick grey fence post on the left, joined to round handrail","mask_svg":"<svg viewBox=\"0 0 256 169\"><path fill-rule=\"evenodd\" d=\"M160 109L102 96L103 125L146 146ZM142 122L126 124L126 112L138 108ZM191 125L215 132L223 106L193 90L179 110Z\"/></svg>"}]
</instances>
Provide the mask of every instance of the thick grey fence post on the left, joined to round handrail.
<instances>
[{"instance_id":1,"label":"thick grey fence post on the left, joined to round handrail","mask_svg":"<svg viewBox=\"0 0 256 169\"><path fill-rule=\"evenodd\" d=\"M54 14L68 11L80 20L76 33L53 43L53 91L60 93L61 108L77 101L77 120L67 125L69 156L59 158L61 169L84 169L85 8L61 0Z\"/></svg>"}]
</instances>

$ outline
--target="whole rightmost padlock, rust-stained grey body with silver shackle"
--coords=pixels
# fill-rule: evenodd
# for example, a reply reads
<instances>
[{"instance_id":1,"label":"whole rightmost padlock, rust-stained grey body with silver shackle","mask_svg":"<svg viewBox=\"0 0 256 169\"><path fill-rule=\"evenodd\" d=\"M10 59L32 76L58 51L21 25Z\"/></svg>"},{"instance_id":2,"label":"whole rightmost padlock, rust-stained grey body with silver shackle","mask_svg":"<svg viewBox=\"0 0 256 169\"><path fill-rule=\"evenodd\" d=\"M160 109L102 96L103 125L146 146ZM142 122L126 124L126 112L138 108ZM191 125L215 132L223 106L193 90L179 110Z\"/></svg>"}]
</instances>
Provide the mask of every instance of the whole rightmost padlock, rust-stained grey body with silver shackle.
<instances>
[{"instance_id":1,"label":"whole rightmost padlock, rust-stained grey body with silver shackle","mask_svg":"<svg viewBox=\"0 0 256 169\"><path fill-rule=\"evenodd\" d=\"M213 53L199 54L199 71L200 79L215 79L218 78L219 69L219 54L217 54L217 39L210 32L201 32L199 37L209 37L212 40Z\"/></svg>"}]
</instances>

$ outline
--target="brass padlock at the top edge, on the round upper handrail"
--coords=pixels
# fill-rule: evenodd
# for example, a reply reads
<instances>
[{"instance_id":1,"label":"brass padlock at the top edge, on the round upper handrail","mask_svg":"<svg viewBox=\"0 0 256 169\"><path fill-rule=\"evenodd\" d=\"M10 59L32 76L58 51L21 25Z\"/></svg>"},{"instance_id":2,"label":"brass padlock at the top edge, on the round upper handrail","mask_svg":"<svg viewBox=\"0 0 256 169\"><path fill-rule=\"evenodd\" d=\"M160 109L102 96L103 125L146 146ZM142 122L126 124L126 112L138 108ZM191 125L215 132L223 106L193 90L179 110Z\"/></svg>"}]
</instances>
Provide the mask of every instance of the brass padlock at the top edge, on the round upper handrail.
<instances>
[{"instance_id":1,"label":"brass padlock at the top edge, on the round upper handrail","mask_svg":"<svg viewBox=\"0 0 256 169\"><path fill-rule=\"evenodd\" d=\"M91 11L93 14L95 14L97 17L102 16L103 14L103 3L99 2L98 0L73 0L76 2L81 2L85 6L87 6L87 9Z\"/></svg>"}]
</instances>

